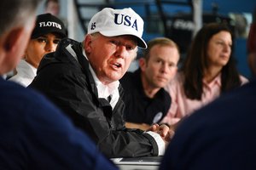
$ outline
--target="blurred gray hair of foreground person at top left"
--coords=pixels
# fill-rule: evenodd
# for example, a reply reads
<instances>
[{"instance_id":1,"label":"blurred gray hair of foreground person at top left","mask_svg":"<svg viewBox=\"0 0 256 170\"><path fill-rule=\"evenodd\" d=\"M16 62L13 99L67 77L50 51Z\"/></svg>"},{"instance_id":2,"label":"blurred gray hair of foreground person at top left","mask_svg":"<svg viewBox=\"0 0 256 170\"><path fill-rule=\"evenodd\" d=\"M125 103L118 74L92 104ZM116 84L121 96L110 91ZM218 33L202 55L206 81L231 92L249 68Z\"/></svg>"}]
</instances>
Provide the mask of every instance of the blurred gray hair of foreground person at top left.
<instances>
[{"instance_id":1,"label":"blurred gray hair of foreground person at top left","mask_svg":"<svg viewBox=\"0 0 256 170\"><path fill-rule=\"evenodd\" d=\"M0 36L14 26L25 26L36 15L41 0L0 1Z\"/></svg>"}]
</instances>

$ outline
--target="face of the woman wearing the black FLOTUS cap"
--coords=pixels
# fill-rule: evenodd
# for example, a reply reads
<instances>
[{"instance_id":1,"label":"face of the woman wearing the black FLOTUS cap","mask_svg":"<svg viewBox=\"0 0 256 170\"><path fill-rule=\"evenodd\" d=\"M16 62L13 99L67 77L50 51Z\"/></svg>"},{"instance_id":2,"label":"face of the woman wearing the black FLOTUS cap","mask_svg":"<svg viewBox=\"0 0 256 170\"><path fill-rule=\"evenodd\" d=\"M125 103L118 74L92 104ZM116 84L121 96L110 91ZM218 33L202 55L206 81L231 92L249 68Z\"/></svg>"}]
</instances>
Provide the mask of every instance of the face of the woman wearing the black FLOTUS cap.
<instances>
[{"instance_id":1,"label":"face of the woman wearing the black FLOTUS cap","mask_svg":"<svg viewBox=\"0 0 256 170\"><path fill-rule=\"evenodd\" d=\"M52 33L31 39L28 42L26 48L26 62L33 65L35 68L38 68L38 65L41 59L44 57L44 54L54 52L60 41L61 37Z\"/></svg>"}]
</instances>

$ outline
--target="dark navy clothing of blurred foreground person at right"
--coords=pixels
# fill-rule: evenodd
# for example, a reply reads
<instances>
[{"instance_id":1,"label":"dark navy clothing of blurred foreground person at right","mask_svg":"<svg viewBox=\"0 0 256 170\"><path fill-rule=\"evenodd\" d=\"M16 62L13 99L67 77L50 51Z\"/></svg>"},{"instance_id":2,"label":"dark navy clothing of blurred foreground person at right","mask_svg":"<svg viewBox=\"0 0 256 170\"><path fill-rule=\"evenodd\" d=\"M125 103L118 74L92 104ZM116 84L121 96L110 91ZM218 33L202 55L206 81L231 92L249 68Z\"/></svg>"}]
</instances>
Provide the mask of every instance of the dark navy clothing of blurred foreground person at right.
<instances>
[{"instance_id":1,"label":"dark navy clothing of blurred foreground person at right","mask_svg":"<svg viewBox=\"0 0 256 170\"><path fill-rule=\"evenodd\" d=\"M256 80L183 120L160 169L256 169Z\"/></svg>"}]
</instances>

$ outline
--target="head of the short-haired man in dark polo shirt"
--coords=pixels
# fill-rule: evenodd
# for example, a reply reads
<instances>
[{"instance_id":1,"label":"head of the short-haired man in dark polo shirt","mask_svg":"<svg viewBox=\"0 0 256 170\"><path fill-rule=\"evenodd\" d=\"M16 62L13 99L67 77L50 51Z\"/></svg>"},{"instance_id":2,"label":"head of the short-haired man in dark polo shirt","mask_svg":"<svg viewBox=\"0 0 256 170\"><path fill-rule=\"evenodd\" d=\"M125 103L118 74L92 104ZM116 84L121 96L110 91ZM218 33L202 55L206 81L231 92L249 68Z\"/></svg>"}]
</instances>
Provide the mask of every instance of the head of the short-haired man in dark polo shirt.
<instances>
[{"instance_id":1,"label":"head of the short-haired man in dark polo shirt","mask_svg":"<svg viewBox=\"0 0 256 170\"><path fill-rule=\"evenodd\" d=\"M164 88L176 75L179 50L177 44L166 37L148 42L148 48L139 60L143 83L151 88Z\"/></svg>"}]
</instances>

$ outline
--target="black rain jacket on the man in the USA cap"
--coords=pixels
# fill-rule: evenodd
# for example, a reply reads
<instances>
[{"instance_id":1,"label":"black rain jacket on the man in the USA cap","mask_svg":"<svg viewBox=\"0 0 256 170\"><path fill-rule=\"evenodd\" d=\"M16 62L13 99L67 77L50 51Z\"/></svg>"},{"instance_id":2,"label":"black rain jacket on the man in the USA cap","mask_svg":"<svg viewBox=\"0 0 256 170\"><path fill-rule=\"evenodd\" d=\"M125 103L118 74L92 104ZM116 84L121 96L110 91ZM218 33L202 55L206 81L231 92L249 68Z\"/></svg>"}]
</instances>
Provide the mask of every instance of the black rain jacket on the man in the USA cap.
<instances>
[{"instance_id":1,"label":"black rain jacket on the man in the USA cap","mask_svg":"<svg viewBox=\"0 0 256 170\"><path fill-rule=\"evenodd\" d=\"M73 54L67 51L73 49ZM75 56L76 55L76 56ZM99 99L82 43L65 38L55 53L44 56L38 75L29 88L36 88L59 106L73 123L90 135L108 157L156 156L158 146L147 133L125 128L119 87L119 101L112 110L107 99Z\"/></svg>"}]
</instances>

